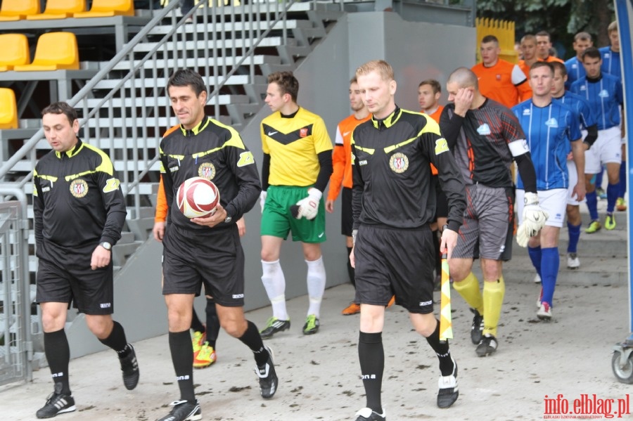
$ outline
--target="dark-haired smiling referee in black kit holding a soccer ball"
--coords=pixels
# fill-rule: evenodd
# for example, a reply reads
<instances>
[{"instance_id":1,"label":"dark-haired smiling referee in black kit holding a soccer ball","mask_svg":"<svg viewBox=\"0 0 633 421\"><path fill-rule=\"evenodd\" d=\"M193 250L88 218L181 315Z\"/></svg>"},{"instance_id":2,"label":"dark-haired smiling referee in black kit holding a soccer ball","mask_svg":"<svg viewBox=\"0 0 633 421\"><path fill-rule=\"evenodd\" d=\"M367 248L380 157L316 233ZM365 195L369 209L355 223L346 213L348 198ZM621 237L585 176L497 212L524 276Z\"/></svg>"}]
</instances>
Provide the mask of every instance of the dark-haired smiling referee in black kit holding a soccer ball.
<instances>
[{"instance_id":1,"label":"dark-haired smiling referee in black kit holding a soccer ball","mask_svg":"<svg viewBox=\"0 0 633 421\"><path fill-rule=\"evenodd\" d=\"M172 109L180 124L160 142L160 172L167 196L167 225L163 244L162 293L167 303L169 342L180 398L159 421L200 420L193 393L191 309L193 297L215 298L224 330L241 340L255 355L260 393L271 398L277 388L272 354L259 330L244 317L244 253L235 222L248 212L262 190L252 153L237 131L205 115L206 86L193 70L178 70L167 82ZM188 219L175 204L175 193L186 179L202 176L220 194L217 212Z\"/></svg>"}]
</instances>

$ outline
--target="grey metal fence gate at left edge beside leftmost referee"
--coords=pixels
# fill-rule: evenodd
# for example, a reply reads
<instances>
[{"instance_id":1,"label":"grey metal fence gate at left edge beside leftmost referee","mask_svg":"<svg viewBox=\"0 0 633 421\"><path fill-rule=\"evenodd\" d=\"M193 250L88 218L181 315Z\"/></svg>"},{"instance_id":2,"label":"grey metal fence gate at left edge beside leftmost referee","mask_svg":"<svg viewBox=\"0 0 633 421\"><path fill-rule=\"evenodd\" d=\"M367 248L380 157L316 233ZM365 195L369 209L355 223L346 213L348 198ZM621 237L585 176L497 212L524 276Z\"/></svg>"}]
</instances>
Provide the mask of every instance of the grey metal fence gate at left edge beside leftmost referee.
<instances>
[{"instance_id":1,"label":"grey metal fence gate at left edge beside leftmost referee","mask_svg":"<svg viewBox=\"0 0 633 421\"><path fill-rule=\"evenodd\" d=\"M22 190L0 186L0 386L31 380L31 288L27 201ZM37 315L34 315L37 318Z\"/></svg>"}]
</instances>

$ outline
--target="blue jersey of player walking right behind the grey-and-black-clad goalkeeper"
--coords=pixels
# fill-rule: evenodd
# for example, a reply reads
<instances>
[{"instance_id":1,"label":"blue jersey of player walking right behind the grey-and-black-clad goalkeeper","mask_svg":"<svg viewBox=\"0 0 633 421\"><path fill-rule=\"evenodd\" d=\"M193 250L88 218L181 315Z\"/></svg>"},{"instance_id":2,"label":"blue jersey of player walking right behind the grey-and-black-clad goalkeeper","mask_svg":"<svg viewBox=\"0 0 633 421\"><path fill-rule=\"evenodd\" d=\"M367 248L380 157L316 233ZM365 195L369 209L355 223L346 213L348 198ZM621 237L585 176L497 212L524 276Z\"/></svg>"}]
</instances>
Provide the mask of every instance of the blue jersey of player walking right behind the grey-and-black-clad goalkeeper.
<instances>
[{"instance_id":1,"label":"blue jersey of player walking right behind the grey-and-black-clad goalkeeper","mask_svg":"<svg viewBox=\"0 0 633 421\"><path fill-rule=\"evenodd\" d=\"M530 147L537 175L537 190L568 188L567 154L572 141L581 138L577 115L559 101L537 107L529 99L512 108ZM523 189L521 177L517 188Z\"/></svg>"}]
</instances>

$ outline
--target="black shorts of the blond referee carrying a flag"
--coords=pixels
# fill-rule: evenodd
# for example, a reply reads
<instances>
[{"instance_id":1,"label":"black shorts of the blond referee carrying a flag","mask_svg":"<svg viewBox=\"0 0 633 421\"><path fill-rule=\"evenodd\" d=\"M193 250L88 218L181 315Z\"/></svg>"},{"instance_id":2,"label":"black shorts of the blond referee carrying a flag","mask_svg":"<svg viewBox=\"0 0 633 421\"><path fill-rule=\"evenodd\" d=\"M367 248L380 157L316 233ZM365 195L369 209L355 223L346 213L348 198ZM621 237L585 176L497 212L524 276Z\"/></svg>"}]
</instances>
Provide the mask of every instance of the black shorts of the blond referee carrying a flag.
<instances>
[{"instance_id":1,"label":"black shorts of the blond referee carrying a flag","mask_svg":"<svg viewBox=\"0 0 633 421\"><path fill-rule=\"evenodd\" d=\"M433 241L430 228L396 230L359 227L356 260L356 298L359 304L386 306L395 302L409 313L433 313Z\"/></svg>"}]
</instances>

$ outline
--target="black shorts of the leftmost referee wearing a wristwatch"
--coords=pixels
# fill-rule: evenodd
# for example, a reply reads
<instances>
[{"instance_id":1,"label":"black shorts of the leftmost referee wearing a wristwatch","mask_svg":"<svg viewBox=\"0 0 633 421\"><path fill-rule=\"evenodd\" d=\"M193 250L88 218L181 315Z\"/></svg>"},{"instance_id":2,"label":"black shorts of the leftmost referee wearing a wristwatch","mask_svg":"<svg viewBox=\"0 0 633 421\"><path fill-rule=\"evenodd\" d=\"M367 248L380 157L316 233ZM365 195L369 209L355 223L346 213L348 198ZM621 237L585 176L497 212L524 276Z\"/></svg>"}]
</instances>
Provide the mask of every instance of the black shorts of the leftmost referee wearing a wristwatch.
<instances>
[{"instance_id":1,"label":"black shorts of the leftmost referee wearing a wristwatch","mask_svg":"<svg viewBox=\"0 0 633 421\"><path fill-rule=\"evenodd\" d=\"M39 247L46 247L39 245ZM94 249L92 249L94 250ZM79 313L89 315L114 312L113 264L94 271L90 268L92 253L75 254L72 259L50 261L39 259L36 275L35 302L70 303Z\"/></svg>"}]
</instances>

